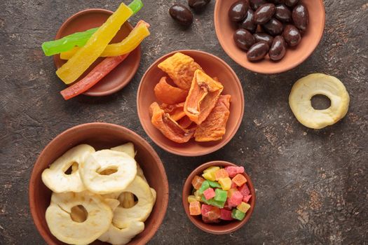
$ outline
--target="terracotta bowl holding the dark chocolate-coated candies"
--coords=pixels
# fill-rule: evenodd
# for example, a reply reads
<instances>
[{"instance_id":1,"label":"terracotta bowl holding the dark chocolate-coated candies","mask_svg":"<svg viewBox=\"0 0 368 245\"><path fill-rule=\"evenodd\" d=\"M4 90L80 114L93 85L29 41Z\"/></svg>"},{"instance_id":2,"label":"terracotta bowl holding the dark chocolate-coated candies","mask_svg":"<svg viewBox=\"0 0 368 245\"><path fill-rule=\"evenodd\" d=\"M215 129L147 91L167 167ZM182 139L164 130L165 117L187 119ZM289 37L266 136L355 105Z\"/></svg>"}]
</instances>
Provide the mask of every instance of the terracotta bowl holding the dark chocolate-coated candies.
<instances>
[{"instance_id":1,"label":"terracotta bowl holding the dark chocolate-coated candies","mask_svg":"<svg viewBox=\"0 0 368 245\"><path fill-rule=\"evenodd\" d=\"M309 12L309 27L296 48L287 48L286 55L278 62L266 56L259 62L247 60L247 53L238 48L233 41L236 24L228 17L230 6L237 0L217 0L214 7L214 29L219 43L235 62L257 73L273 74L288 71L306 60L317 48L325 29L325 6L322 0L301 0Z\"/></svg>"}]
</instances>

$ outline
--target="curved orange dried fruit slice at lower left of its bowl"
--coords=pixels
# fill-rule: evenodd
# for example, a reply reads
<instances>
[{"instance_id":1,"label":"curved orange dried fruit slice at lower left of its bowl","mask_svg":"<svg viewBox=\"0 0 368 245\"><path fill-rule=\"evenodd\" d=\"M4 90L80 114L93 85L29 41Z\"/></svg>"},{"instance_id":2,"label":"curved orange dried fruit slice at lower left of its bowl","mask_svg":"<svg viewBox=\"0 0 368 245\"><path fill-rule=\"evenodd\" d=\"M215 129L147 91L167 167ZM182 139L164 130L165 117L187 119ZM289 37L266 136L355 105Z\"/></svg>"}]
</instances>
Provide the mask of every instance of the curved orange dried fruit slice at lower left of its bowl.
<instances>
[{"instance_id":1,"label":"curved orange dried fruit slice at lower left of its bowl","mask_svg":"<svg viewBox=\"0 0 368 245\"><path fill-rule=\"evenodd\" d=\"M172 120L170 115L165 113L156 102L151 104L149 109L152 116L152 124L168 139L176 143L185 143L193 136L194 130L186 130L180 127L180 125L177 124L175 120Z\"/></svg>"}]
</instances>

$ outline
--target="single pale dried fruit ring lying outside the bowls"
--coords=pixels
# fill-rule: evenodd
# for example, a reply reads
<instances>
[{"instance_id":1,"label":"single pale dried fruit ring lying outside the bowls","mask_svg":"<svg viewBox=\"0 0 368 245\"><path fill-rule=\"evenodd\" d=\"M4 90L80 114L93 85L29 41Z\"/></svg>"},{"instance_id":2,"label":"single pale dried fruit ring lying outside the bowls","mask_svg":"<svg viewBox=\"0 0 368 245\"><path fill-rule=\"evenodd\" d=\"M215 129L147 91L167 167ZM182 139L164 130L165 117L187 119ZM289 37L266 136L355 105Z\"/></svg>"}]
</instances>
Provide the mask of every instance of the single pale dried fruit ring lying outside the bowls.
<instances>
[{"instance_id":1,"label":"single pale dried fruit ring lying outside the bowls","mask_svg":"<svg viewBox=\"0 0 368 245\"><path fill-rule=\"evenodd\" d=\"M325 110L313 109L311 99L317 94L328 97L331 106ZM292 87L289 106L299 122L313 129L322 129L341 120L348 112L349 94L334 76L315 73L301 78Z\"/></svg>"}]
</instances>

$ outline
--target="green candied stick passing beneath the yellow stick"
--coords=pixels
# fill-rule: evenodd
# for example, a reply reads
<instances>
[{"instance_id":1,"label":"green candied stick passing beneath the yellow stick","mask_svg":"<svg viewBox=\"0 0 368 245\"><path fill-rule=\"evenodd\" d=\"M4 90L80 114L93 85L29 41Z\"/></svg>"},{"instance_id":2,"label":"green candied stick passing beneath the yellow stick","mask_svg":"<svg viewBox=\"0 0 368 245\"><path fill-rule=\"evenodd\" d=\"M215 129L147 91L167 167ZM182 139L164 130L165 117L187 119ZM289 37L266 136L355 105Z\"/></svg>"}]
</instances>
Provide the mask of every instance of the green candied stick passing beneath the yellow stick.
<instances>
[{"instance_id":1,"label":"green candied stick passing beneath the yellow stick","mask_svg":"<svg viewBox=\"0 0 368 245\"><path fill-rule=\"evenodd\" d=\"M142 7L141 0L133 0L128 7L135 15ZM88 29L87 31L76 32L63 38L42 43L41 47L46 56L57 55L60 52L66 52L75 46L83 47L86 45L90 37L97 31L99 27Z\"/></svg>"}]
</instances>

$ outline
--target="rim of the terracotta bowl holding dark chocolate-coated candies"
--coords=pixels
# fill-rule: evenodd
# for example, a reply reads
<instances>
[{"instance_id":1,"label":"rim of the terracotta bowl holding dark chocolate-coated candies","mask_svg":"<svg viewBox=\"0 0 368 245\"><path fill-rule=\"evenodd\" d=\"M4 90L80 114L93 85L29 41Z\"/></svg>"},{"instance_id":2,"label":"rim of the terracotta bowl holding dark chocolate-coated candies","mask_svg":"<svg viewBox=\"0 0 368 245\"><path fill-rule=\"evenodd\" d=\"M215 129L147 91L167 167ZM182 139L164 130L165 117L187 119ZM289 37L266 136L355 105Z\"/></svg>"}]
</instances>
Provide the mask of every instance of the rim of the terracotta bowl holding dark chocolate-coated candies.
<instances>
[{"instance_id":1,"label":"rim of the terracotta bowl holding dark chocolate-coated candies","mask_svg":"<svg viewBox=\"0 0 368 245\"><path fill-rule=\"evenodd\" d=\"M219 21L217 21L218 15L217 13L219 12L219 2L220 1L224 1L224 0L218 0L216 1L215 5L214 5L214 31L216 32L216 36L217 36L217 40L219 41L220 45L222 46L222 48L224 49L224 51L226 52L227 55L229 55L229 57L231 57L231 59L233 59L233 61L236 62L236 55L233 55L232 52L229 51L229 49L226 47L226 45L224 45L224 41L222 41L221 38L219 38L220 34L219 34ZM323 0L319 0L320 4L322 6L322 26L325 27L325 22L326 22L326 11L325 11L325 4L323 3ZM304 61L306 61L306 59L308 59L309 56L311 56L311 54L314 52L314 50L318 47L318 44L320 43L320 41L322 40L322 36L323 36L323 32L325 31L325 28L322 28L320 33L318 33L317 36L315 36L316 39L318 39L318 42L316 43L316 45L311 48L311 50L308 50L308 52L305 52L305 54L303 55L303 57L301 57L301 59L298 59L298 62L294 62L292 64L289 65L285 65L285 66L281 66L280 69L278 69L277 71L265 71L263 69L252 69L250 67L247 67L243 64L239 64L240 66L243 66L245 69L249 69L250 71L253 72L257 72L257 73L262 73L262 74L277 74L277 73L282 73L285 71L289 71L297 66L299 66L299 64L303 63ZM259 67L259 66L257 66Z\"/></svg>"}]
</instances>

